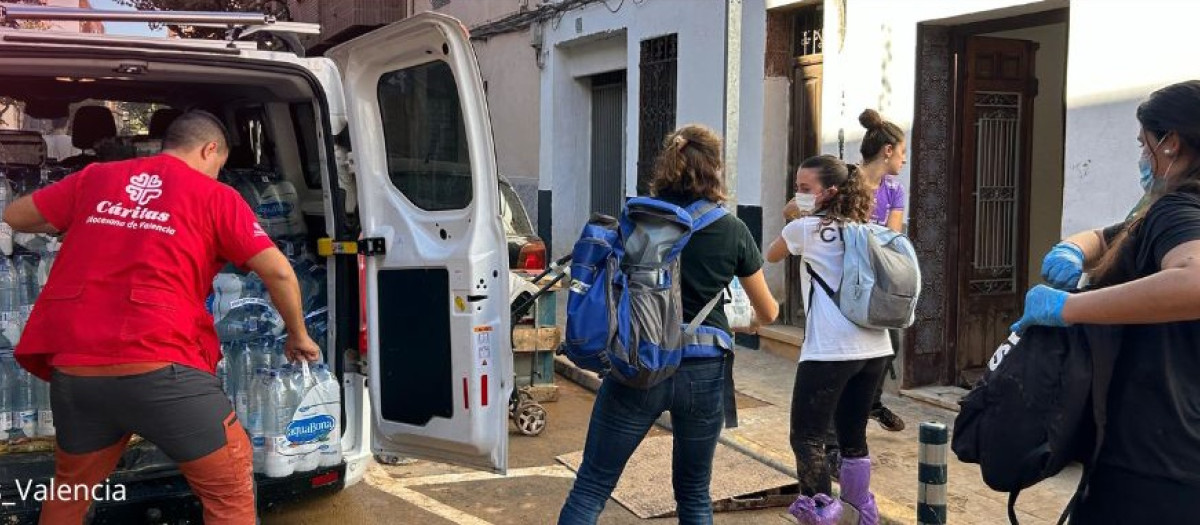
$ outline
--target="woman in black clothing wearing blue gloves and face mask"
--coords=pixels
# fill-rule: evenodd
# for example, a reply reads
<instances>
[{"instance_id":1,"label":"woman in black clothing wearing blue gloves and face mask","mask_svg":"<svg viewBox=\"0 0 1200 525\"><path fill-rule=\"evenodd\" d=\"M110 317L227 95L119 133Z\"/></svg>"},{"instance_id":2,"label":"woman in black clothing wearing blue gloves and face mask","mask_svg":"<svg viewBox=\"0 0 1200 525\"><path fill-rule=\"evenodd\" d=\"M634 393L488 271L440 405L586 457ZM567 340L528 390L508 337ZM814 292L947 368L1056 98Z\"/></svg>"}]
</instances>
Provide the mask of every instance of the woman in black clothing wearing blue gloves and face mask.
<instances>
[{"instance_id":1,"label":"woman in black clothing wearing blue gloves and face mask","mask_svg":"<svg viewBox=\"0 0 1200 525\"><path fill-rule=\"evenodd\" d=\"M1148 207L1051 251L1043 267L1062 290L1030 290L1014 325L1124 326L1106 439L1073 524L1200 519L1200 80L1154 91L1138 121ZM1068 292L1085 268L1093 285Z\"/></svg>"}]
</instances>

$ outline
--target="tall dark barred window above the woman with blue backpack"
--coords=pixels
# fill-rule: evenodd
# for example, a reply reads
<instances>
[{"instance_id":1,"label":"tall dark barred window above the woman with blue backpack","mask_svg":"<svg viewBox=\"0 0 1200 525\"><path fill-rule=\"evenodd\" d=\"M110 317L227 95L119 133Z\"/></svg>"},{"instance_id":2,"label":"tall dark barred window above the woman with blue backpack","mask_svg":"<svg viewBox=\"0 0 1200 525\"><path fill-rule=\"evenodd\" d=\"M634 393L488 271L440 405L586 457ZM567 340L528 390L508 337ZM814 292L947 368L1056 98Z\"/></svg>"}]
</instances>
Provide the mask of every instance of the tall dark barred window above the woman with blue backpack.
<instances>
[{"instance_id":1,"label":"tall dark barred window above the woman with blue backpack","mask_svg":"<svg viewBox=\"0 0 1200 525\"><path fill-rule=\"evenodd\" d=\"M654 157L676 126L678 35L643 40L637 108L637 194L649 193Z\"/></svg>"}]
</instances>

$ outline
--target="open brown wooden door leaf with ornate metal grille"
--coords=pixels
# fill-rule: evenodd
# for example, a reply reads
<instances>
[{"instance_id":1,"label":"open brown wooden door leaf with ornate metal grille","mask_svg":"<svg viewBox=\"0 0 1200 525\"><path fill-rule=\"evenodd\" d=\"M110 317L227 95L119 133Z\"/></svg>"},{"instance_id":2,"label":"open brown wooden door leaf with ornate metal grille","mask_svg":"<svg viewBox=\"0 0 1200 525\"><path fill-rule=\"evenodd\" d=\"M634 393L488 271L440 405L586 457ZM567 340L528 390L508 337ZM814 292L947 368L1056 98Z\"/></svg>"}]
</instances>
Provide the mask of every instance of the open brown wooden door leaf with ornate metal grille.
<instances>
[{"instance_id":1,"label":"open brown wooden door leaf with ornate metal grille","mask_svg":"<svg viewBox=\"0 0 1200 525\"><path fill-rule=\"evenodd\" d=\"M961 104L958 382L974 382L1027 286L1036 44L966 40Z\"/></svg>"}]
</instances>

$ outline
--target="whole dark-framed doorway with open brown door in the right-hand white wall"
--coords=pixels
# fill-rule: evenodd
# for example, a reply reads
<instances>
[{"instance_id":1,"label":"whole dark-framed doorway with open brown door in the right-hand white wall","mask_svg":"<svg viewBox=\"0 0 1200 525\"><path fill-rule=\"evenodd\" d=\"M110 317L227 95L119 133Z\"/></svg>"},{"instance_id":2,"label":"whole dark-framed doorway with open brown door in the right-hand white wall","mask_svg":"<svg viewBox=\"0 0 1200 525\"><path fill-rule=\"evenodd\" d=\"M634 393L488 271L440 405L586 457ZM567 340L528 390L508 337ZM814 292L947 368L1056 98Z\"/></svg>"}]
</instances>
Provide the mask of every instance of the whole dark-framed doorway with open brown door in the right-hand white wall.
<instances>
[{"instance_id":1,"label":"whole dark-framed doorway with open brown door in the right-hand white wall","mask_svg":"<svg viewBox=\"0 0 1200 525\"><path fill-rule=\"evenodd\" d=\"M978 19L978 18L976 18ZM970 387L1062 229L1068 8L918 26L902 388Z\"/></svg>"}]
</instances>

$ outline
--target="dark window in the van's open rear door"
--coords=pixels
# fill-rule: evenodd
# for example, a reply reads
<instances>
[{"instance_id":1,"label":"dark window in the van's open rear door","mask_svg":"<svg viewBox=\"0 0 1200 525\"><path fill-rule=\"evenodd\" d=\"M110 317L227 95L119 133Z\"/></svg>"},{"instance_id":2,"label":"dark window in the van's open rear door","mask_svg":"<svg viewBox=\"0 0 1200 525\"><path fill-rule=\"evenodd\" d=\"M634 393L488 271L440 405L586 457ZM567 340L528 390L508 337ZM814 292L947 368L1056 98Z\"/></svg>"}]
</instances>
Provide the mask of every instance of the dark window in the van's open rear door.
<instances>
[{"instance_id":1,"label":"dark window in the van's open rear door","mask_svg":"<svg viewBox=\"0 0 1200 525\"><path fill-rule=\"evenodd\" d=\"M470 204L470 153L458 89L446 62L379 78L379 113L391 183L422 210Z\"/></svg>"}]
</instances>

